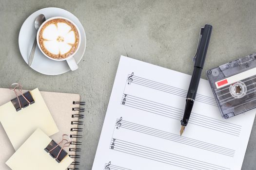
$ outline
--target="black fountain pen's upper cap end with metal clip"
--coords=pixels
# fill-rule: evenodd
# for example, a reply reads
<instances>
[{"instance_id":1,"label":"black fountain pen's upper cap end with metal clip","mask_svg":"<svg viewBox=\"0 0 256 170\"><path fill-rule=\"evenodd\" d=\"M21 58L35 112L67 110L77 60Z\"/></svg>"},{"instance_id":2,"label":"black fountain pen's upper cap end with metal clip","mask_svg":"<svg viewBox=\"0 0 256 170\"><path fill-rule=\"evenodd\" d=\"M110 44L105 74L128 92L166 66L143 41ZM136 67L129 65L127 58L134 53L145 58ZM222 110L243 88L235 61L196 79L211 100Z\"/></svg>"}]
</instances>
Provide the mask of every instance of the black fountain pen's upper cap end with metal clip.
<instances>
[{"instance_id":1,"label":"black fountain pen's upper cap end with metal clip","mask_svg":"<svg viewBox=\"0 0 256 170\"><path fill-rule=\"evenodd\" d=\"M209 41L212 33L212 26L206 24L204 28L200 32L199 42L198 42L198 49L197 54L195 55L194 61L195 66L198 68L203 68L204 61L205 61L205 55L209 46ZM198 58L200 57L200 58Z\"/></svg>"}]
</instances>

